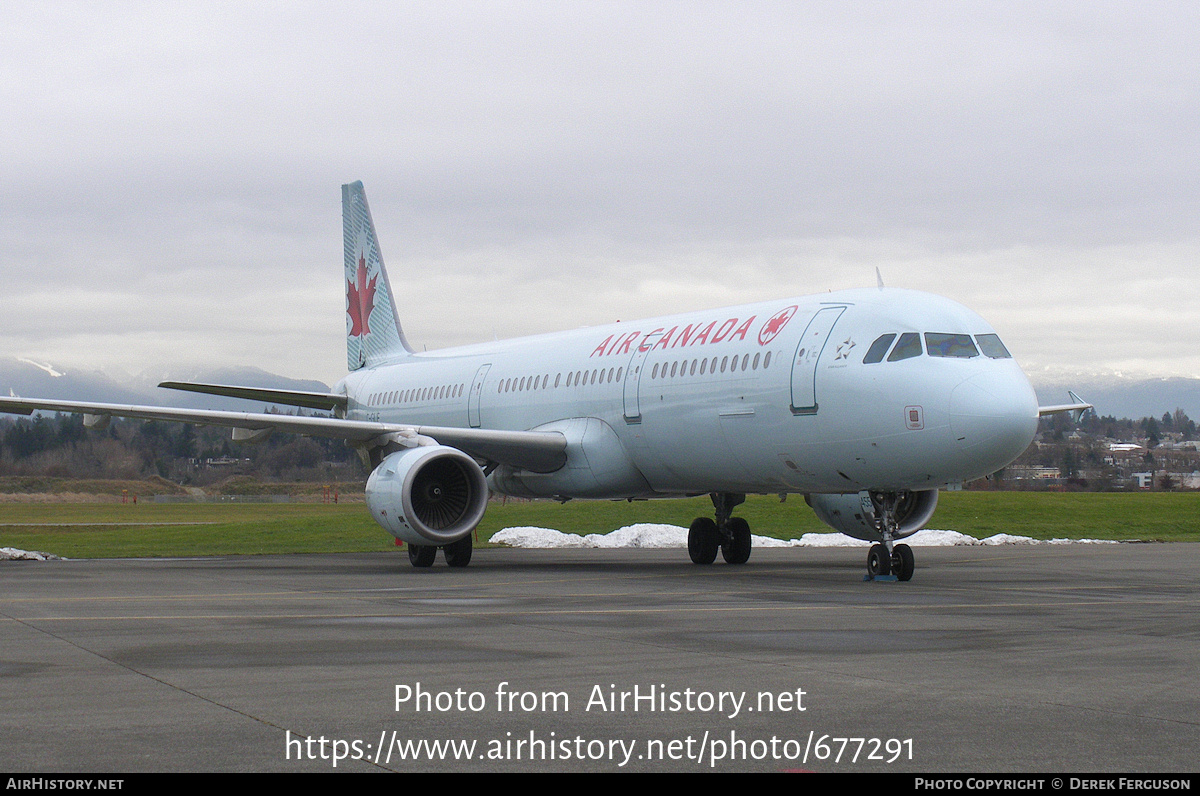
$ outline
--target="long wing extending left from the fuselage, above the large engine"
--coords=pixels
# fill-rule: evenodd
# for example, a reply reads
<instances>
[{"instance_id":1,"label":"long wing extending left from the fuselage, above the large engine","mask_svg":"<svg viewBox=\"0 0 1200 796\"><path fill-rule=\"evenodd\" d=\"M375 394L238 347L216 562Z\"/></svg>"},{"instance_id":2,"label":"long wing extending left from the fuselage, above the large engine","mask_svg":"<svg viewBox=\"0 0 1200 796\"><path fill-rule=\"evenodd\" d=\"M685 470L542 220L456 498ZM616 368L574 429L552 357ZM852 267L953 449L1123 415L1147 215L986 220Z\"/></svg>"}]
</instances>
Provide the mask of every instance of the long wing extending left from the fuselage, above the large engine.
<instances>
[{"instance_id":1,"label":"long wing extending left from the fuselage, above the large engine","mask_svg":"<svg viewBox=\"0 0 1200 796\"><path fill-rule=\"evenodd\" d=\"M439 444L457 448L472 456L502 465L514 465L539 473L550 473L566 463L566 438L557 431L499 431L492 429L454 429L402 423L371 423L342 418L310 418L293 414L253 412L217 412L178 409L166 406L127 406L88 401L47 401L40 399L0 397L0 412L68 412L84 415L88 426L101 425L109 417L143 420L169 420L226 426L235 439L253 439L254 432L283 431L310 437L344 439L361 444L390 433L415 432ZM239 435L238 431L242 430Z\"/></svg>"}]
</instances>

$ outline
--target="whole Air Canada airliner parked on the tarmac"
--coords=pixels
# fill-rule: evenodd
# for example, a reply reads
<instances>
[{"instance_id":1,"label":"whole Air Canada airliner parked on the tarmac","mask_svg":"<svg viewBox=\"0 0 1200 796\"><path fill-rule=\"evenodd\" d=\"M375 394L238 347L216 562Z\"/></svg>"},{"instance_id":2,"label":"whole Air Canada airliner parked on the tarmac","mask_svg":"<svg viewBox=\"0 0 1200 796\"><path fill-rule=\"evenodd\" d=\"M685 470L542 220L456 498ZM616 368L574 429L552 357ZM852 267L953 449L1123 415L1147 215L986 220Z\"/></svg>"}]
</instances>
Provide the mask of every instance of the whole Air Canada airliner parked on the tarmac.
<instances>
[{"instance_id":1,"label":"whole Air Canada airliner parked on the tarmac","mask_svg":"<svg viewBox=\"0 0 1200 796\"><path fill-rule=\"evenodd\" d=\"M0 411L223 425L347 441L371 471L366 501L413 565L472 555L488 491L636 499L709 495L688 532L710 564L750 557L746 493L802 493L817 516L875 541L874 576L908 580L899 540L937 490L1012 462L1039 407L995 330L954 301L883 288L415 352L404 339L361 182L342 186L349 375L332 391L160 387L324 409L332 417L0 399Z\"/></svg>"}]
</instances>

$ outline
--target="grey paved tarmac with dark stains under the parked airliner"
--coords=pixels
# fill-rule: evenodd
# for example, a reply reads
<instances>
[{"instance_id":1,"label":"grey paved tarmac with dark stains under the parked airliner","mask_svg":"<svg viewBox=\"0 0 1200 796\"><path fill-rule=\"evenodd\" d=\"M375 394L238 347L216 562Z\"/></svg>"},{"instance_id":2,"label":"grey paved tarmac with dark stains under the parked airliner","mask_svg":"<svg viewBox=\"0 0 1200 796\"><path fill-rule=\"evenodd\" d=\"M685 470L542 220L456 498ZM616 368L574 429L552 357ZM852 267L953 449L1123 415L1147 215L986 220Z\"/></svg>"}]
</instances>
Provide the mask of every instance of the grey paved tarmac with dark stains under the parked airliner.
<instances>
[{"instance_id":1,"label":"grey paved tarmac with dark stains under the parked airliner","mask_svg":"<svg viewBox=\"0 0 1200 796\"><path fill-rule=\"evenodd\" d=\"M0 562L0 768L1195 771L1200 546L916 552Z\"/></svg>"}]
</instances>

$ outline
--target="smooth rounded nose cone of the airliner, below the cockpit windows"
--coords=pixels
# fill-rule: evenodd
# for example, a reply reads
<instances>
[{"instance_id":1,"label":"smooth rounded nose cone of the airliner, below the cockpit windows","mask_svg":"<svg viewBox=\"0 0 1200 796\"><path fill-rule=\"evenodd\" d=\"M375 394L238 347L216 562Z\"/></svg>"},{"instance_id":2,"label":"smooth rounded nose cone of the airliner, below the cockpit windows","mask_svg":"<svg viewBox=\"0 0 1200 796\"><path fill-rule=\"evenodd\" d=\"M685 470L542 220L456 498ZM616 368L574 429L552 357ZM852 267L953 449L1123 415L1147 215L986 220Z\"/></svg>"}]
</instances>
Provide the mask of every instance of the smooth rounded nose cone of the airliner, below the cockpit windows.
<instances>
[{"instance_id":1,"label":"smooth rounded nose cone of the airliner, below the cockpit windows","mask_svg":"<svg viewBox=\"0 0 1200 796\"><path fill-rule=\"evenodd\" d=\"M950 430L979 475L1012 463L1038 430L1038 400L1025 373L977 373L955 387Z\"/></svg>"}]
</instances>

